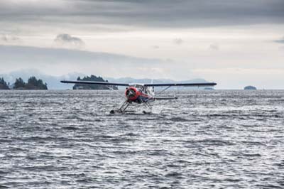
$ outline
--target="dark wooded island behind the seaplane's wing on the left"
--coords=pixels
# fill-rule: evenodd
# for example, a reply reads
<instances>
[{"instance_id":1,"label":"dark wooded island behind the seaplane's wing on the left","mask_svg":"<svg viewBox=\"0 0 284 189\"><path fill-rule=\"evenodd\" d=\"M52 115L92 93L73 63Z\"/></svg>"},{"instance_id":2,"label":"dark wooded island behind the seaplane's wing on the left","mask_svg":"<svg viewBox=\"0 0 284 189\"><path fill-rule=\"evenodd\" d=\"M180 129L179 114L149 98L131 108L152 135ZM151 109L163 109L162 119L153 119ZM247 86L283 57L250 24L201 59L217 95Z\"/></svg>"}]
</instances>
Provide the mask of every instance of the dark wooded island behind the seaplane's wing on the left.
<instances>
[{"instance_id":1,"label":"dark wooded island behind the seaplane's wing on the left","mask_svg":"<svg viewBox=\"0 0 284 189\"><path fill-rule=\"evenodd\" d=\"M77 78L77 81L93 81L93 82L109 82L104 80L102 77L97 77L95 75L85 76L84 78ZM116 86L104 86L104 85L85 85L85 84L75 84L73 90L119 90Z\"/></svg>"}]
</instances>

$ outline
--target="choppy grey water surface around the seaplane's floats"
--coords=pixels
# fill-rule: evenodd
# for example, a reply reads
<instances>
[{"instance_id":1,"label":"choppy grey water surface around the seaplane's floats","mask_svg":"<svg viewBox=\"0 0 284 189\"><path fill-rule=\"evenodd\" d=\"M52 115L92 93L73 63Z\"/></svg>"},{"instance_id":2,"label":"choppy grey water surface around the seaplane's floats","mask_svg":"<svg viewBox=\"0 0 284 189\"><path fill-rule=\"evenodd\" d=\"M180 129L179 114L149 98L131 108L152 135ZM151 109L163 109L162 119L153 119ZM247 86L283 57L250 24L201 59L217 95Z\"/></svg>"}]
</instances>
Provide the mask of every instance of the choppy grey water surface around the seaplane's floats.
<instances>
[{"instance_id":1,"label":"choppy grey water surface around the seaplane's floats","mask_svg":"<svg viewBox=\"0 0 284 189\"><path fill-rule=\"evenodd\" d=\"M284 188L284 91L0 92L0 188Z\"/></svg>"}]
</instances>

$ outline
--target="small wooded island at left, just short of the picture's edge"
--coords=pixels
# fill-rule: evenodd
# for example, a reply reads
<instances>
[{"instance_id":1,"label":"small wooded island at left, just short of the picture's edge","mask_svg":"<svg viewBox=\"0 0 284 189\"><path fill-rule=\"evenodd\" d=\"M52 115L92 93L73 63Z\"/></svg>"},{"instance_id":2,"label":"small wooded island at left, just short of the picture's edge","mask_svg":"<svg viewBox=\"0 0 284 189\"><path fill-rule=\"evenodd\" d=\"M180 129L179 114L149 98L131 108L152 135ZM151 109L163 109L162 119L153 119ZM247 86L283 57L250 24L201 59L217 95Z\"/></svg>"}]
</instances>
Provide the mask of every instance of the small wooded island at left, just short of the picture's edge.
<instances>
[{"instance_id":1,"label":"small wooded island at left, just short of the picture's edge","mask_svg":"<svg viewBox=\"0 0 284 189\"><path fill-rule=\"evenodd\" d=\"M48 85L43 83L43 80L37 80L34 76L28 78L27 83L19 77L13 85L13 90L48 90Z\"/></svg>"}]
</instances>

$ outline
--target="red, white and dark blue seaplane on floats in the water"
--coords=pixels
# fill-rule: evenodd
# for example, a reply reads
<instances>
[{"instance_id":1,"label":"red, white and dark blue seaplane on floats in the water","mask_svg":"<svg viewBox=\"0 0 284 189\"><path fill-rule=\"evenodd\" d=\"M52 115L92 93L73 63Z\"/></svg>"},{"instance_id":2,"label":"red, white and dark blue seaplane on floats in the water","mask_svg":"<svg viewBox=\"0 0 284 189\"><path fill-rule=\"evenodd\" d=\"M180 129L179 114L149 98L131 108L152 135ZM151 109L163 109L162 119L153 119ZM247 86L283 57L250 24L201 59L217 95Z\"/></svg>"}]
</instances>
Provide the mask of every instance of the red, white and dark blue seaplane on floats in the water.
<instances>
[{"instance_id":1,"label":"red, white and dark blue seaplane on floats in the water","mask_svg":"<svg viewBox=\"0 0 284 189\"><path fill-rule=\"evenodd\" d=\"M200 83L191 83L191 82L176 82L176 83L120 83L120 82L93 82L93 81L70 81L70 80L62 80L62 83L72 83L72 84L80 84L80 85L104 85L109 90L113 90L114 86L124 86L126 90L125 101L119 107L119 109L111 110L110 114L115 113L126 113L126 109L130 104L143 104L148 109L152 109L152 104L155 100L170 100L170 99L178 99L178 97L158 97L157 95L162 94L165 90L168 90L170 87L212 87L217 85L215 82L200 82ZM155 95L154 87L165 87L163 90L160 90L158 94ZM151 113L143 111L144 114Z\"/></svg>"}]
</instances>

